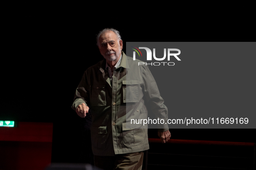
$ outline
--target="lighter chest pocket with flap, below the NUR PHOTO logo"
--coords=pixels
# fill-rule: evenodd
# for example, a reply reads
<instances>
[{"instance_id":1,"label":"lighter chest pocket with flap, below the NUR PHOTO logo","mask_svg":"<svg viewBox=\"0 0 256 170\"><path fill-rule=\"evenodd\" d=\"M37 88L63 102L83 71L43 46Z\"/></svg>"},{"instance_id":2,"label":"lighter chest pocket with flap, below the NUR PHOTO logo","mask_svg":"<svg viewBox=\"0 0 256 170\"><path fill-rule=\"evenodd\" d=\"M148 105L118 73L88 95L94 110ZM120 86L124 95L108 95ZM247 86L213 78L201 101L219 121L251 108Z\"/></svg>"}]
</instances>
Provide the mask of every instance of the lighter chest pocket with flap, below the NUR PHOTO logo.
<instances>
[{"instance_id":1,"label":"lighter chest pocket with flap, below the NUR PHOTO logo","mask_svg":"<svg viewBox=\"0 0 256 170\"><path fill-rule=\"evenodd\" d=\"M139 102L138 80L123 80L123 102Z\"/></svg>"}]
</instances>

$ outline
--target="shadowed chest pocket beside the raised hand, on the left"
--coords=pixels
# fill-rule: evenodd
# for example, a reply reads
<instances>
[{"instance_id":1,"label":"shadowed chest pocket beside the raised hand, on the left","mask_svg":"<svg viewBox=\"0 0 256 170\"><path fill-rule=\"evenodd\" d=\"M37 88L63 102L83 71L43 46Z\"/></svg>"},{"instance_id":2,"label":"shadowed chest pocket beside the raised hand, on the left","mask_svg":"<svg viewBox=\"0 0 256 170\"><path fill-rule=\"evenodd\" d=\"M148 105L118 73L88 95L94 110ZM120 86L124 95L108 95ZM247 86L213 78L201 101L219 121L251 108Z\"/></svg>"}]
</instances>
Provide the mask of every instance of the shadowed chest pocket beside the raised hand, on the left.
<instances>
[{"instance_id":1,"label":"shadowed chest pocket beside the raised hand, on the left","mask_svg":"<svg viewBox=\"0 0 256 170\"><path fill-rule=\"evenodd\" d=\"M106 106L106 83L91 86L91 106Z\"/></svg>"}]
</instances>

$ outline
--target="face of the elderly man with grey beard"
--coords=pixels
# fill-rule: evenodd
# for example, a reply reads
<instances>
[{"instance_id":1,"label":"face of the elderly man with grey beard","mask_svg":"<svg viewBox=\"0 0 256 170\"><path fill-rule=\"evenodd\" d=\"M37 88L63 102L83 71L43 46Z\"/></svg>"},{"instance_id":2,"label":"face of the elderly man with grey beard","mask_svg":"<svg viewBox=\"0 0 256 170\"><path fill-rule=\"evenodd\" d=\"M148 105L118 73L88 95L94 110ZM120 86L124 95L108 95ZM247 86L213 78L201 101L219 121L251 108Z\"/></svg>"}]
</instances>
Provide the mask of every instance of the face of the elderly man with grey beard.
<instances>
[{"instance_id":1,"label":"face of the elderly man with grey beard","mask_svg":"<svg viewBox=\"0 0 256 170\"><path fill-rule=\"evenodd\" d=\"M118 40L117 35L113 31L105 32L100 35L98 41L98 47L100 54L107 61L119 60L121 56L121 50L123 49L123 41Z\"/></svg>"}]
</instances>

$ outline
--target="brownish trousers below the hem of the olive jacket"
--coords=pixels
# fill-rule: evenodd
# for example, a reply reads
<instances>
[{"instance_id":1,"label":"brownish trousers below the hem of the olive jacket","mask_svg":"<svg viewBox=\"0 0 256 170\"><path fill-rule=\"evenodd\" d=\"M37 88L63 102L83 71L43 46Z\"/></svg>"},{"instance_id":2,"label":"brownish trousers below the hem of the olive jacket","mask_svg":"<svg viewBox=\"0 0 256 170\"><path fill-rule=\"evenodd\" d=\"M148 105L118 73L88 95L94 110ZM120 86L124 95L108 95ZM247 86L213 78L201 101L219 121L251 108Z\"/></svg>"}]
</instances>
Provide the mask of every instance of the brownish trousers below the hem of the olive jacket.
<instances>
[{"instance_id":1,"label":"brownish trousers below the hem of the olive jacket","mask_svg":"<svg viewBox=\"0 0 256 170\"><path fill-rule=\"evenodd\" d=\"M116 154L115 156L94 155L94 165L103 170L141 170L144 152Z\"/></svg>"}]
</instances>

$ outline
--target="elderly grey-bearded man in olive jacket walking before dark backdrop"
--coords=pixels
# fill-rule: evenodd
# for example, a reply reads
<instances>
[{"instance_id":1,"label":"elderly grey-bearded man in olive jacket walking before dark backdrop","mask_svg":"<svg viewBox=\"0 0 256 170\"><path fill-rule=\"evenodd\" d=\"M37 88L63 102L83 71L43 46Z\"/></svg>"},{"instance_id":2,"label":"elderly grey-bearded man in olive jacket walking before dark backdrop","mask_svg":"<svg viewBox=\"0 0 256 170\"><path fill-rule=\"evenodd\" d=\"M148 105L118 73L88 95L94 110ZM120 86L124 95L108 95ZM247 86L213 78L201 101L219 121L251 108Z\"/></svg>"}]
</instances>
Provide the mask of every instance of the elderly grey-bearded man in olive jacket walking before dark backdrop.
<instances>
[{"instance_id":1,"label":"elderly grey-bearded man in olive jacket walking before dark backdrop","mask_svg":"<svg viewBox=\"0 0 256 170\"><path fill-rule=\"evenodd\" d=\"M139 60L122 51L119 31L100 31L97 46L104 60L84 72L72 108L82 118L91 111L95 166L141 170L143 151L149 149L147 129L128 127L129 118L145 117L148 103L157 117L167 120L167 108L148 66L138 66ZM158 135L167 142L171 137L168 126L158 129Z\"/></svg>"}]
</instances>

